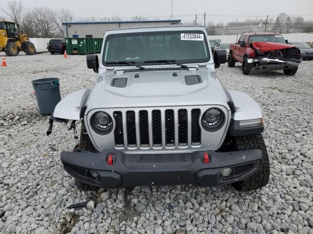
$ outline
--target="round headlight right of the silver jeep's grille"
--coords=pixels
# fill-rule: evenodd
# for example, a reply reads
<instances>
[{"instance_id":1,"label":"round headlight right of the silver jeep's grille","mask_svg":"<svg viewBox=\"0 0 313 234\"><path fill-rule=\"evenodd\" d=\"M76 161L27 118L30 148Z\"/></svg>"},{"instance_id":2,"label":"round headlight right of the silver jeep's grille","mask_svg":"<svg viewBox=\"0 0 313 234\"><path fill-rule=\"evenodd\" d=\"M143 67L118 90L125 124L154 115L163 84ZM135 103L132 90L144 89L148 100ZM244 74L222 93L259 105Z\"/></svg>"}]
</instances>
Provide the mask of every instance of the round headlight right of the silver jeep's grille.
<instances>
[{"instance_id":1,"label":"round headlight right of the silver jeep's grille","mask_svg":"<svg viewBox=\"0 0 313 234\"><path fill-rule=\"evenodd\" d=\"M218 108L210 108L201 118L202 127L208 132L219 130L225 121L224 113Z\"/></svg>"}]
</instances>

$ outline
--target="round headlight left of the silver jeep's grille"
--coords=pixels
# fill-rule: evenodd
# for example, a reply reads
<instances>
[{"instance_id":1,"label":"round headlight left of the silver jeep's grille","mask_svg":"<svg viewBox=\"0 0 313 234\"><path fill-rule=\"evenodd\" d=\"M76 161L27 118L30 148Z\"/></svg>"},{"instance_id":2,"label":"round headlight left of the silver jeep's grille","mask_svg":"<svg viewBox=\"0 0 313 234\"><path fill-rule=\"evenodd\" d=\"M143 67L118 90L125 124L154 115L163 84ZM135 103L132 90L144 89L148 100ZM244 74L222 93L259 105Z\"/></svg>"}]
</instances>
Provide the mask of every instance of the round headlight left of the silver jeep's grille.
<instances>
[{"instance_id":1,"label":"round headlight left of the silver jeep's grille","mask_svg":"<svg viewBox=\"0 0 313 234\"><path fill-rule=\"evenodd\" d=\"M100 134L108 134L113 127L112 118L104 111L98 111L91 117L93 129Z\"/></svg>"}]
</instances>

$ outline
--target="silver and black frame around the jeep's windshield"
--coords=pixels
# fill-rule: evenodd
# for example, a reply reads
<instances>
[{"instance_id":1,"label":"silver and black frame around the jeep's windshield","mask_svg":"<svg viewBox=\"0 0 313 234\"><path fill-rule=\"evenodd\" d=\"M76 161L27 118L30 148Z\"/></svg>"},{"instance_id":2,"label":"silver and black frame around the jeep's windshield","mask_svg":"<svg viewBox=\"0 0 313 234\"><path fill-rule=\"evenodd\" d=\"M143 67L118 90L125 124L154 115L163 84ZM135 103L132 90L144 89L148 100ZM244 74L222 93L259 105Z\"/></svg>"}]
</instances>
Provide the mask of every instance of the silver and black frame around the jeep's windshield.
<instances>
[{"instance_id":1,"label":"silver and black frame around the jeep's windshield","mask_svg":"<svg viewBox=\"0 0 313 234\"><path fill-rule=\"evenodd\" d=\"M180 63L180 64L193 64L193 63L209 63L209 61L211 60L211 48L208 45L208 40L207 40L207 34L202 31L202 30L195 30L195 29L181 29L181 30L164 30L164 31L135 31L135 32L126 32L125 33L112 33L109 34L105 37L105 41L103 43L103 51L101 54L101 63L105 66L105 67L123 67L125 66L125 64L118 64L117 61L116 63L110 63L108 64L107 62L105 62L105 56L106 56L106 47L107 47L107 43L110 39L112 39L115 36L130 36L131 34L135 34L138 36L142 36L142 35L166 35L166 34L182 34L182 33L190 33L190 34L203 34L203 41L204 41L204 46L206 48L206 52L207 52L207 57L205 59L185 59L185 60L179 60L179 59L175 59L176 62ZM165 58L160 58L160 59L154 59L154 60L164 60ZM146 60L146 59L145 59ZM145 63L144 61L138 61L135 62L134 64L136 65L141 65L141 66L155 66L155 65L175 65L175 64L164 64L163 62L155 62L155 63ZM127 66L127 65L126 65Z\"/></svg>"}]
</instances>

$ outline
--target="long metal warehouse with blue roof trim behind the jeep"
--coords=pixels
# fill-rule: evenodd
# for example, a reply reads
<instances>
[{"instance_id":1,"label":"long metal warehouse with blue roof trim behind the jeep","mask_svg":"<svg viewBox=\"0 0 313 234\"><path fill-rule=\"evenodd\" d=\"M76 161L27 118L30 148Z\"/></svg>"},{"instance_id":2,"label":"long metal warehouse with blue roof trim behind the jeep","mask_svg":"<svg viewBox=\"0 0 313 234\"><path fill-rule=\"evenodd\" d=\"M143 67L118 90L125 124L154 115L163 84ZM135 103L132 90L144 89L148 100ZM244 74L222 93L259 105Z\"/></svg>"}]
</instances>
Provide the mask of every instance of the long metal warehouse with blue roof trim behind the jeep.
<instances>
[{"instance_id":1,"label":"long metal warehouse with blue roof trim behind the jeep","mask_svg":"<svg viewBox=\"0 0 313 234\"><path fill-rule=\"evenodd\" d=\"M140 20L140 21L95 21L63 22L67 38L102 38L103 34L116 28L135 26L179 25L181 20Z\"/></svg>"}]
</instances>

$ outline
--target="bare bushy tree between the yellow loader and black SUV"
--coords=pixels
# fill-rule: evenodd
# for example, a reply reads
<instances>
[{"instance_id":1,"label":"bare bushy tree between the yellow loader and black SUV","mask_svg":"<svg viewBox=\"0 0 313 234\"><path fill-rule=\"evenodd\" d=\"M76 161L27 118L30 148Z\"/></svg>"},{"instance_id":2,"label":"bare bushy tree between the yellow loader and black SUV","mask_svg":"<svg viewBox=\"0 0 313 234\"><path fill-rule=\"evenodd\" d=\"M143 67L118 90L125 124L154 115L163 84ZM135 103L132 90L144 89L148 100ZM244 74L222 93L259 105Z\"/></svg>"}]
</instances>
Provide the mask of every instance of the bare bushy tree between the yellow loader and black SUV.
<instances>
[{"instance_id":1,"label":"bare bushy tree between the yellow loader and black SUV","mask_svg":"<svg viewBox=\"0 0 313 234\"><path fill-rule=\"evenodd\" d=\"M56 24L55 12L47 7L35 7L30 11L30 19L36 34L43 38L53 37Z\"/></svg>"}]
</instances>

